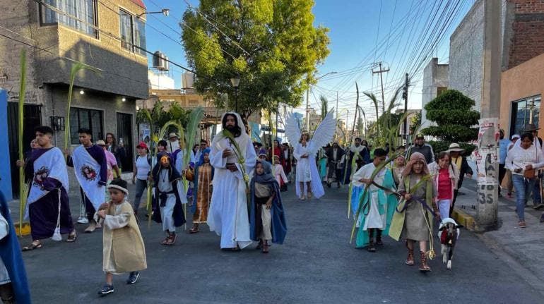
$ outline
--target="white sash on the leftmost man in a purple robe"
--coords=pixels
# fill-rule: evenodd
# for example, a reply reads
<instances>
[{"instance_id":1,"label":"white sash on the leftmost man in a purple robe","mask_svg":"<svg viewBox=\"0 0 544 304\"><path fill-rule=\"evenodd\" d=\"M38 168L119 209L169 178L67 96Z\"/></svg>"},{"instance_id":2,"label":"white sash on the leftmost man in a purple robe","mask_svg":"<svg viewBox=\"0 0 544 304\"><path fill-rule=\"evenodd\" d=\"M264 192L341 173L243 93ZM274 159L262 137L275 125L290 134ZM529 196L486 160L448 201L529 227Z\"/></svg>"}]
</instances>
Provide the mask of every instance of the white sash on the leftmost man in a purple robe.
<instances>
[{"instance_id":1,"label":"white sash on the leftmost man in a purple robe","mask_svg":"<svg viewBox=\"0 0 544 304\"><path fill-rule=\"evenodd\" d=\"M27 206L49 193L49 191L42 188L45 178L54 178L60 181L66 192L68 192L66 162L64 162L61 150L57 147L53 147L34 161L34 176L32 176Z\"/></svg>"}]
</instances>

